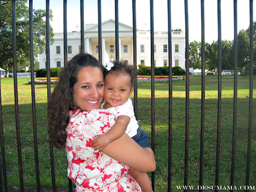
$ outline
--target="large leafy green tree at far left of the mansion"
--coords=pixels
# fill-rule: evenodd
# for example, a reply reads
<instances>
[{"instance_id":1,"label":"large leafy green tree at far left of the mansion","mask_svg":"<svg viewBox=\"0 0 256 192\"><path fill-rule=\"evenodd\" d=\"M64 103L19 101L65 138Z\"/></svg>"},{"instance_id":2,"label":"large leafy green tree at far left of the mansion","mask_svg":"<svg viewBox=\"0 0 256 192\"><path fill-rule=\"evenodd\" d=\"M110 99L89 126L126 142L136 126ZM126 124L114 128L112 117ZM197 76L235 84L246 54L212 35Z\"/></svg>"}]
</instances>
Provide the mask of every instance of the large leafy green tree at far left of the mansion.
<instances>
[{"instance_id":1,"label":"large leafy green tree at far left of the mansion","mask_svg":"<svg viewBox=\"0 0 256 192\"><path fill-rule=\"evenodd\" d=\"M33 10L34 61L45 47L46 17L45 10ZM6 70L6 75L12 66L12 1L0 1L0 67ZM50 10L52 20L52 11ZM53 42L53 32L50 26L50 41ZM17 68L30 66L29 42L29 8L25 1L16 1L16 54Z\"/></svg>"}]
</instances>

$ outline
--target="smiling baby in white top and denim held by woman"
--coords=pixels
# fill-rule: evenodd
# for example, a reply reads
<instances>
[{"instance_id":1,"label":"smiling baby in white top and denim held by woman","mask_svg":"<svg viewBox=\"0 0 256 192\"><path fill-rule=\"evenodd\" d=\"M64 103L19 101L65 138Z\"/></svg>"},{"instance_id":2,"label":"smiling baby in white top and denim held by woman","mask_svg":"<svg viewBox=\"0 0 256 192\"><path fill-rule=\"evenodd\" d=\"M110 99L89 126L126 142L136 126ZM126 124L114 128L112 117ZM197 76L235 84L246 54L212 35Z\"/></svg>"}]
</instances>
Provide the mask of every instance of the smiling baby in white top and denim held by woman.
<instances>
[{"instance_id":1,"label":"smiling baby in white top and denim held by woman","mask_svg":"<svg viewBox=\"0 0 256 192\"><path fill-rule=\"evenodd\" d=\"M106 145L122 136L124 132L140 146L148 147L148 135L137 123L132 106L133 66L123 62L109 63L105 71L104 102L100 108L116 116L116 123L103 135L94 137L91 142L94 150L100 152ZM142 192L152 192L148 175L130 168L130 175L138 182Z\"/></svg>"}]
</instances>

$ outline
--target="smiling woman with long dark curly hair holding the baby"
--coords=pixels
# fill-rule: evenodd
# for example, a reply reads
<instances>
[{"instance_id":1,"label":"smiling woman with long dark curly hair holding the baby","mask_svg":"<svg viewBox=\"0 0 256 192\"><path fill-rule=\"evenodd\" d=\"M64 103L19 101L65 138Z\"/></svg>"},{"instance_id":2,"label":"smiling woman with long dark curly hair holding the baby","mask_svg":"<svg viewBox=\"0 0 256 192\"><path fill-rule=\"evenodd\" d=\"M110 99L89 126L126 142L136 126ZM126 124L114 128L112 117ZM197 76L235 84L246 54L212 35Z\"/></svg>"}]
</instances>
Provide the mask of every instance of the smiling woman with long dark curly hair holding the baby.
<instances>
[{"instance_id":1,"label":"smiling woman with long dark curly hair holding the baby","mask_svg":"<svg viewBox=\"0 0 256 192\"><path fill-rule=\"evenodd\" d=\"M94 151L90 144L115 123L114 115L99 109L104 96L103 71L90 54L78 54L64 67L48 102L50 142L66 148L68 176L77 192L141 191L129 170L155 170L150 148L141 148L126 134L102 152Z\"/></svg>"}]
</instances>

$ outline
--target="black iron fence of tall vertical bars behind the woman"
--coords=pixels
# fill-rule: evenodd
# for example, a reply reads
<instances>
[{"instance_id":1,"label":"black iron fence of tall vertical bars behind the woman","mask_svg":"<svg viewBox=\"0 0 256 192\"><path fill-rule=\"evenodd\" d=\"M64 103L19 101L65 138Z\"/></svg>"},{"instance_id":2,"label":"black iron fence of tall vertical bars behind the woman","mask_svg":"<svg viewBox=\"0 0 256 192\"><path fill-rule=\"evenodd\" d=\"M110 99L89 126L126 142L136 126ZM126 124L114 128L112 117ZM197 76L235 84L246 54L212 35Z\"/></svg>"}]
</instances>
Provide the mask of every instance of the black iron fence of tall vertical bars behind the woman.
<instances>
[{"instance_id":1,"label":"black iron fence of tall vertical bars behind the woman","mask_svg":"<svg viewBox=\"0 0 256 192\"><path fill-rule=\"evenodd\" d=\"M171 0L168 1L168 64L169 64L169 78L172 78L172 33L171 33ZM64 65L67 64L67 1L64 0ZM221 6L220 0L218 3L218 69L222 70L222 46L221 46ZM20 191L24 191L24 178L22 172L22 150L20 140L20 118L18 106L18 87L17 87L17 58L16 58L16 1L12 0L12 39L13 39L13 70L14 70L14 96L15 96L15 116L16 116L16 135L18 147L18 165L20 174ZM185 116L185 154L184 154L184 186L188 185L188 138L189 138L189 36L188 36L188 0L184 0L185 5L185 28L186 28L186 116ZM251 142L252 142L252 91L253 91L253 0L250 0L250 93L249 93L249 116L248 116L248 147L246 160L246 186L249 186L250 177L250 157L251 157ZM231 5L230 5L231 6ZM231 174L230 186L234 185L234 170L235 170L235 153L236 153L236 113L237 113L237 71L238 71L238 48L237 48L237 0L234 0L234 103L233 103L233 131L232 131L232 158L231 158ZM30 30L30 68L31 68L31 93L32 93L32 114L33 114L33 131L34 131L34 156L36 166L36 183L37 191L40 191L40 174L39 174L39 160L38 160L38 142L37 142L37 128L36 128L36 104L35 104L35 84L34 84L34 59L33 59L33 2L29 1L29 30ZM150 0L150 32L151 32L151 78L154 79L154 2ZM80 0L81 11L81 31L84 31L84 0ZM137 68L137 54L136 54L136 0L132 0L133 12L133 63ZM49 0L46 0L46 68L47 68L47 90L48 97L50 96L50 24L49 24L50 7ZM118 0L115 0L115 36L116 36L116 59L119 60L119 44L118 44ZM99 46L99 60L102 62L102 28L101 28L101 0L98 0L98 46ZM201 0L201 32L202 32L202 71L205 70L205 21L204 21L204 0ZM11 37L10 37L11 38ZM84 52L84 33L81 33L81 51ZM203 170L204 170L204 118L205 118L205 74L202 72L202 87L201 87L201 134L200 134L200 176L199 186L203 186ZM155 95L154 95L154 81L151 82L151 125L152 125L152 150L155 150ZM1 92L0 92L1 93ZM222 100L222 75L218 73L218 119L217 119L217 144L216 144L216 174L215 186L219 184L219 168L220 168L220 130L221 130L221 100ZM137 104L137 79L134 80L134 109L135 115L138 115ZM1 101L1 100L0 100ZM171 191L172 182L172 81L169 81L169 150L168 150L168 191ZM4 151L4 128L2 123L2 104L0 105L0 139L1 139L1 165L0 169L0 190L8 191L7 176L6 176L6 160ZM55 171L54 171L54 152L50 145L50 159L52 170L52 191L56 191ZM155 175L152 172L152 186L154 190ZM72 191L72 183L69 181L69 189ZM246 191L248 189L245 188ZM184 189L184 191L187 191ZM200 190L202 191L202 189ZM218 191L216 189L215 191ZM233 191L230 189L230 191Z\"/></svg>"}]
</instances>

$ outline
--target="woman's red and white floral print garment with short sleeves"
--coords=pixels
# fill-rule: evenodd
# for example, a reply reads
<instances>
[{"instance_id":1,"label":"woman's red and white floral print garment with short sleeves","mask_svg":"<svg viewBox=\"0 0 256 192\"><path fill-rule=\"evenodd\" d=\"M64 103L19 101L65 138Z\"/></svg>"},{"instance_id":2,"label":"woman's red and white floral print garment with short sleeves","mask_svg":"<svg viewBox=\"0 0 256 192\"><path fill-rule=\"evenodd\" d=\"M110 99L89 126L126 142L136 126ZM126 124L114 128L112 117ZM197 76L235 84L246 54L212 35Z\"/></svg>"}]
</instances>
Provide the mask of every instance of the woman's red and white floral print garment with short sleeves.
<instances>
[{"instance_id":1,"label":"woman's red and white floral print garment with short sleeves","mask_svg":"<svg viewBox=\"0 0 256 192\"><path fill-rule=\"evenodd\" d=\"M129 166L94 151L90 145L93 136L107 132L115 121L106 110L70 111L66 153L68 176L76 184L76 192L141 192Z\"/></svg>"}]
</instances>

